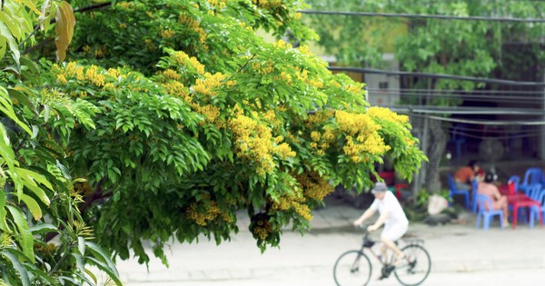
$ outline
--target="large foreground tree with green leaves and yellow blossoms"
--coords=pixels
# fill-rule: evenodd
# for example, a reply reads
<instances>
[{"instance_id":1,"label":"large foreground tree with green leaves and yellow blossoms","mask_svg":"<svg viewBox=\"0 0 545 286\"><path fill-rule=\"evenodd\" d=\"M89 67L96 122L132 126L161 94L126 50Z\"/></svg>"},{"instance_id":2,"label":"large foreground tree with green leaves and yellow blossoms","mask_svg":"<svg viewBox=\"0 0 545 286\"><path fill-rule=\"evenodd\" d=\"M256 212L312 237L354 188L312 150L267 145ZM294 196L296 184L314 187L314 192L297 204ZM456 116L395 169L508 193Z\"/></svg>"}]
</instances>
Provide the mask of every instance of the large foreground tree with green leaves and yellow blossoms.
<instances>
[{"instance_id":1,"label":"large foreground tree with green leaves and yellow blossoms","mask_svg":"<svg viewBox=\"0 0 545 286\"><path fill-rule=\"evenodd\" d=\"M47 212L47 218L15 222L52 225L41 228L45 235L35 241L45 245L50 233L64 238L79 230L79 248L61 239L48 249L80 253L55 269L67 276L92 263L116 279L110 255L127 259L133 250L147 262L143 240L165 263L163 243L172 237L222 242L238 232L236 212L242 210L264 250L278 245L282 226L306 230L312 208L332 185L370 185L374 164L385 157L410 178L424 159L406 116L369 107L362 84L331 74L304 45L267 43L255 32L289 30L312 39L296 13L300 2L75 1L43 7L60 12L55 29L45 27L27 47L39 61L17 55L17 61L3 62L14 67L2 83L13 109L5 114L25 132L6 131L5 139L17 138L17 146L6 143L1 151L12 150L14 161L35 170L47 203L34 207L17 201L13 189L4 192L23 218L28 209ZM81 12L74 27L71 7ZM36 15L28 16L33 24L47 22L49 14ZM12 54L16 50L10 45ZM64 53L68 61L58 61ZM47 61L55 58L55 64ZM12 174L4 176L5 186L17 180ZM23 194L25 187L36 190L24 185ZM77 222L66 222L74 217ZM10 230L3 233L15 237ZM82 261L88 253L83 245L100 257ZM20 273L36 269L47 276L41 261L26 263Z\"/></svg>"}]
</instances>

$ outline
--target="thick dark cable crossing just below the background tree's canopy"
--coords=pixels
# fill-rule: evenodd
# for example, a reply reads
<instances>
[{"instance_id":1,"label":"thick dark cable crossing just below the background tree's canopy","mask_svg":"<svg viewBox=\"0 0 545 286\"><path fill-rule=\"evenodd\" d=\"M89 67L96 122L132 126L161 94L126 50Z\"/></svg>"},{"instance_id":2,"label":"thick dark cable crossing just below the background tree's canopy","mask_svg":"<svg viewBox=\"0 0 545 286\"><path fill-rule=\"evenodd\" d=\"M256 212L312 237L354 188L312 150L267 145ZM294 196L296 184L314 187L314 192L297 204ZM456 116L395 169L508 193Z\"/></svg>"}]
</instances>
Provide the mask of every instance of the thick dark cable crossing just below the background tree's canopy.
<instances>
[{"instance_id":1,"label":"thick dark cable crossing just below the background tree's canopy","mask_svg":"<svg viewBox=\"0 0 545 286\"><path fill-rule=\"evenodd\" d=\"M468 82L476 82L476 83L484 83L484 84L545 87L545 83L540 83L540 82L520 82L520 81L510 81L510 80L502 80L502 79L451 75L451 74L429 74L429 73L415 73L415 72L385 71L385 70L379 70L379 69L350 67L350 66L330 66L329 70L339 71L339 72L360 73L360 74L411 75L411 76L417 76L417 77L450 79L450 80L468 81Z\"/></svg>"}]
</instances>

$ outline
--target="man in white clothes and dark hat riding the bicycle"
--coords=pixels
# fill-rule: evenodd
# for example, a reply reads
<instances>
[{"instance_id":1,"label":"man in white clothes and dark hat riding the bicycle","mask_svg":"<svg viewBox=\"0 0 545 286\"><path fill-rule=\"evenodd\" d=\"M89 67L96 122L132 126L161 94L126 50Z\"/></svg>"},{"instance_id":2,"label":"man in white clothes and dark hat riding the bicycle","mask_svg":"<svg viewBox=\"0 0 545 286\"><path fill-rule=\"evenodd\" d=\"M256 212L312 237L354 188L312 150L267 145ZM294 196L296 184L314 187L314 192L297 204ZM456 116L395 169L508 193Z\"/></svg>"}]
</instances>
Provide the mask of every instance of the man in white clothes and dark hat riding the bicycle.
<instances>
[{"instance_id":1,"label":"man in white clothes and dark hat riding the bicycle","mask_svg":"<svg viewBox=\"0 0 545 286\"><path fill-rule=\"evenodd\" d=\"M363 212L362 216L353 222L354 226L361 225L378 210L380 213L379 219L374 224L367 227L368 232L373 232L384 224L384 230L381 233L381 255L386 256L387 249L390 249L395 254L394 265L399 264L403 259L403 252L397 247L395 241L399 240L409 228L409 221L400 202L391 193L388 192L388 187L384 182L376 182L371 191L374 194L375 200L372 202L369 209Z\"/></svg>"}]
</instances>

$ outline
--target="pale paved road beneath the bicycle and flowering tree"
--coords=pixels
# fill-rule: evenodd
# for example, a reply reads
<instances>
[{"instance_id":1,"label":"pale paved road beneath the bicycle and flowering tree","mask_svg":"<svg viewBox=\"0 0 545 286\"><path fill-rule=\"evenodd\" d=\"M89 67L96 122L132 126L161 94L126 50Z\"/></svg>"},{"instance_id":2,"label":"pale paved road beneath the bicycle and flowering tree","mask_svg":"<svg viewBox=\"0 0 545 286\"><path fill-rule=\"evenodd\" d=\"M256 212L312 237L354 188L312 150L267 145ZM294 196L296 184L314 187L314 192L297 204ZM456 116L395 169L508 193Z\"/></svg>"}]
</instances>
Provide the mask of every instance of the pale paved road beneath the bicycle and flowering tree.
<instances>
[{"instance_id":1,"label":"pale paved road beneath the bicycle and flowering tree","mask_svg":"<svg viewBox=\"0 0 545 286\"><path fill-rule=\"evenodd\" d=\"M344 251L357 248L362 234L349 227L361 211L345 206L314 212L313 230L301 236L284 232L280 249L263 254L240 218L241 232L231 242L171 246L170 268L159 261L145 266L119 261L125 285L334 285L332 265ZM412 224L410 234L425 240L433 261L424 285L545 285L545 228L488 232L470 224L430 227ZM376 266L376 265L375 265ZM378 266L373 277L378 275ZM533 281L533 283L530 283ZM537 284L536 284L537 283ZM393 277L372 285L399 285Z\"/></svg>"}]
</instances>

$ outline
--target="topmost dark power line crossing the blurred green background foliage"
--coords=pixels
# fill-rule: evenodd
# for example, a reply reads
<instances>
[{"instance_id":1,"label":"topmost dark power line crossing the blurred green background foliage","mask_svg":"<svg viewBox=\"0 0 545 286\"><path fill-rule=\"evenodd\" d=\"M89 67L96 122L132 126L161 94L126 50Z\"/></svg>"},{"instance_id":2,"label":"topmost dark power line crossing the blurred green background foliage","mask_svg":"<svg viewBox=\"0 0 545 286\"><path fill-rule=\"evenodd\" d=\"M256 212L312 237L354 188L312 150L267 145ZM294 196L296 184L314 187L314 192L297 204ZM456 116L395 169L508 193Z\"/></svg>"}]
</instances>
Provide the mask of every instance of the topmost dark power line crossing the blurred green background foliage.
<instances>
[{"instance_id":1,"label":"topmost dark power line crossing the blurred green background foliage","mask_svg":"<svg viewBox=\"0 0 545 286\"><path fill-rule=\"evenodd\" d=\"M455 16L455 15L416 15L405 13L376 13L376 12L347 12L347 11L322 11L322 10L299 10L299 13L309 15L350 15L350 16L380 16L394 18L424 18L440 20L473 20L487 22L518 22L518 23L545 23L542 18L509 18L509 17L484 17L484 16Z\"/></svg>"}]
</instances>

